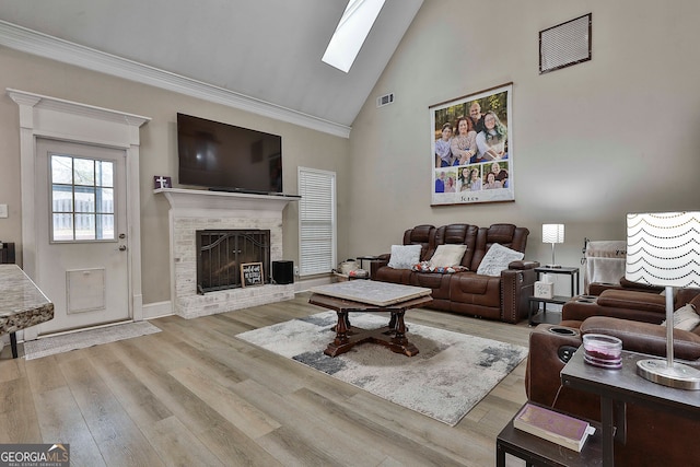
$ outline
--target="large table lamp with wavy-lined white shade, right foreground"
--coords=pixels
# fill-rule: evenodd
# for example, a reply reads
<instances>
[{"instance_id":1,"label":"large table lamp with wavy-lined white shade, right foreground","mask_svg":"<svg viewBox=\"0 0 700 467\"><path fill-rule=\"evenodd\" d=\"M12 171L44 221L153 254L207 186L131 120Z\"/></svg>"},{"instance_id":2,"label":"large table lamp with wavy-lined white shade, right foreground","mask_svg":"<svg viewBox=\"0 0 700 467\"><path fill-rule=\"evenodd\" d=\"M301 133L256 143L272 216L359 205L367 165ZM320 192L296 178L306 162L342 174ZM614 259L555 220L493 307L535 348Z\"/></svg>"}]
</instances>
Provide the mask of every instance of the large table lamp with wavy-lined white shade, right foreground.
<instances>
[{"instance_id":1,"label":"large table lamp with wavy-lined white shade, right foreground","mask_svg":"<svg viewBox=\"0 0 700 467\"><path fill-rule=\"evenodd\" d=\"M700 212L627 215L625 277L666 288L666 360L637 363L645 380L700 389L700 371L674 362L674 287L700 287Z\"/></svg>"}]
</instances>

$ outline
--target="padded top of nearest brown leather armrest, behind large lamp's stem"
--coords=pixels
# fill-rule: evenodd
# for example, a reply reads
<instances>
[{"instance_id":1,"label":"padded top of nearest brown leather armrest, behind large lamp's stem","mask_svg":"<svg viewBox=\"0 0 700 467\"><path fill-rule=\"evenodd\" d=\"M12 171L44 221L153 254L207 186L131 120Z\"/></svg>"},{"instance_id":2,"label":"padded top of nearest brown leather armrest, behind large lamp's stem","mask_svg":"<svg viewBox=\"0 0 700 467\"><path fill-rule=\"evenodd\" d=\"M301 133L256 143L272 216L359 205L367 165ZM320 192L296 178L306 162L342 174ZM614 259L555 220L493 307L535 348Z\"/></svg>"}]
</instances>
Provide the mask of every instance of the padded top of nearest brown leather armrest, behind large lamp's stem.
<instances>
[{"instance_id":1,"label":"padded top of nearest brown leather armrest, behind large lamp's stem","mask_svg":"<svg viewBox=\"0 0 700 467\"><path fill-rule=\"evenodd\" d=\"M620 339L625 350L666 357L665 326L609 316L593 316L583 322L581 334L605 334ZM674 329L674 355L681 360L700 360L700 336Z\"/></svg>"}]
</instances>

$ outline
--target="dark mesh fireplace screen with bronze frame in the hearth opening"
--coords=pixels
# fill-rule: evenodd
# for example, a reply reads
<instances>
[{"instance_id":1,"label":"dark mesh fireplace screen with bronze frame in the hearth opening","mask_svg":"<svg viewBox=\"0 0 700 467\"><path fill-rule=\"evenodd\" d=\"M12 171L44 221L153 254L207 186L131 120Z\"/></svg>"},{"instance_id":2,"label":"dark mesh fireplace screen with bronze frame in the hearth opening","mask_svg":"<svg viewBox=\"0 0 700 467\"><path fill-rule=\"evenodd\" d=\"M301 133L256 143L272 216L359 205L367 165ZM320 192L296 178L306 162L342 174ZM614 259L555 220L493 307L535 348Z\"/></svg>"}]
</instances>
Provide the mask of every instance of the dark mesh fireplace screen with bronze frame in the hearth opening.
<instances>
[{"instance_id":1,"label":"dark mesh fireplace screen with bronze frame in the hearth opening","mask_svg":"<svg viewBox=\"0 0 700 467\"><path fill-rule=\"evenodd\" d=\"M236 289L241 265L262 262L265 282L270 282L270 231L197 231L197 293Z\"/></svg>"}]
</instances>

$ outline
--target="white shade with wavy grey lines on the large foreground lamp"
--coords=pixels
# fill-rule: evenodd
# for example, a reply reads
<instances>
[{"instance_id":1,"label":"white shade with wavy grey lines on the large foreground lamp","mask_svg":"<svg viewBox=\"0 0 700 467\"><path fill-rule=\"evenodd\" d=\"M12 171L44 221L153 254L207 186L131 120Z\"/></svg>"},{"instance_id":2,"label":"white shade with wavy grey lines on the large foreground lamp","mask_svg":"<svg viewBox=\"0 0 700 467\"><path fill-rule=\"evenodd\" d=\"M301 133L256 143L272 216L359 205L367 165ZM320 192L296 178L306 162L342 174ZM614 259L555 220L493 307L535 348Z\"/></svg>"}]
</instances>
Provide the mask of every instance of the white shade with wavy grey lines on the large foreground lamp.
<instances>
[{"instance_id":1,"label":"white shade with wavy grey lines on the large foreground lamp","mask_svg":"<svg viewBox=\"0 0 700 467\"><path fill-rule=\"evenodd\" d=\"M626 279L700 287L700 212L627 215Z\"/></svg>"}]
</instances>

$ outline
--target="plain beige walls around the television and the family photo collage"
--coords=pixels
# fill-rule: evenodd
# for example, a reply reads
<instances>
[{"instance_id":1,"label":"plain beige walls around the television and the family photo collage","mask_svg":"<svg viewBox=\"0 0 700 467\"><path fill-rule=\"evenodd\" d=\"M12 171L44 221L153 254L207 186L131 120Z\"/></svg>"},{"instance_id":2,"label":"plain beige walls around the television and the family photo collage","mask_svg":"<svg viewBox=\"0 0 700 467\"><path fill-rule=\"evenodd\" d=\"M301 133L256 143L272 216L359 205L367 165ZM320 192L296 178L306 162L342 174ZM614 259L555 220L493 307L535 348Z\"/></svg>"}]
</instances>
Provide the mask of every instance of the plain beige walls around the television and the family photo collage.
<instances>
[{"instance_id":1,"label":"plain beige walls around the television and the family photo collage","mask_svg":"<svg viewBox=\"0 0 700 467\"><path fill-rule=\"evenodd\" d=\"M538 32L593 13L593 60L538 73ZM153 119L141 130L144 303L170 300L167 202L153 175L177 172L177 112L282 135L284 185L296 166L338 173L338 258L388 252L419 223L513 222L527 258L547 262L541 223L567 224L558 262L584 237L621 240L631 211L698 209L697 0L425 0L353 124L350 140L0 47L0 90L15 87ZM430 207L429 107L513 82L515 202ZM377 109L378 95L396 102ZM21 243L16 105L0 95L0 240ZM296 208L284 256L298 261Z\"/></svg>"}]
</instances>

